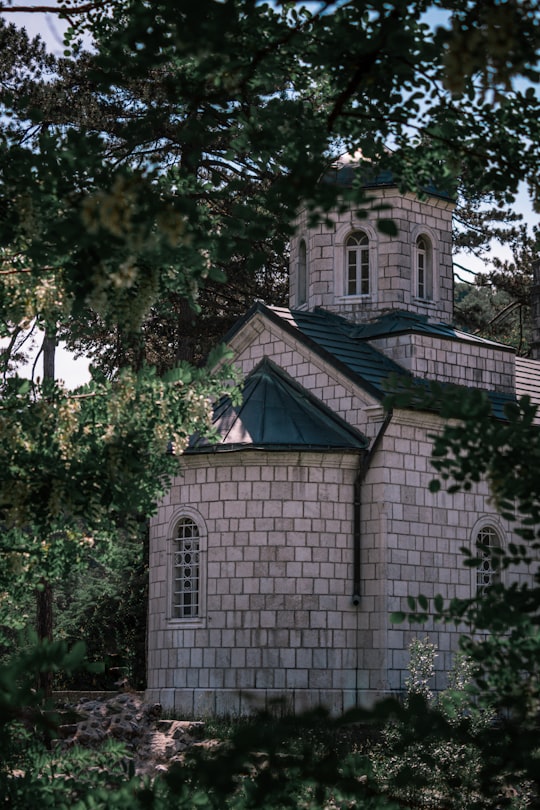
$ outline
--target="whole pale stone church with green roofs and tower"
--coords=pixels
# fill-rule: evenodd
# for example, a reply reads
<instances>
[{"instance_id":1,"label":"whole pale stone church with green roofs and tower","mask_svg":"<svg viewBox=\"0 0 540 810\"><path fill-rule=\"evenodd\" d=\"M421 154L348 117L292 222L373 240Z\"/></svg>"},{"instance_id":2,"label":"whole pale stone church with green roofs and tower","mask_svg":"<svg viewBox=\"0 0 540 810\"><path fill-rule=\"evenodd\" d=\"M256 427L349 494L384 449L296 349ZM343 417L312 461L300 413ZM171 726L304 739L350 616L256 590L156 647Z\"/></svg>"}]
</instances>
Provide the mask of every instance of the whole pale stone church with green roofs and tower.
<instances>
[{"instance_id":1,"label":"whole pale stone church with green roofs and tower","mask_svg":"<svg viewBox=\"0 0 540 810\"><path fill-rule=\"evenodd\" d=\"M300 213L290 308L256 303L227 335L243 402L217 403L220 442L186 452L152 520L147 698L179 714L366 705L403 689L426 633L443 686L455 629L390 614L409 594L468 597L499 574L489 556L465 568L460 547L513 539L485 484L430 493L441 419L386 412L384 386L481 388L501 416L516 394L538 398L540 361L452 326L448 197L384 178L370 195L397 236L376 211L332 227Z\"/></svg>"}]
</instances>

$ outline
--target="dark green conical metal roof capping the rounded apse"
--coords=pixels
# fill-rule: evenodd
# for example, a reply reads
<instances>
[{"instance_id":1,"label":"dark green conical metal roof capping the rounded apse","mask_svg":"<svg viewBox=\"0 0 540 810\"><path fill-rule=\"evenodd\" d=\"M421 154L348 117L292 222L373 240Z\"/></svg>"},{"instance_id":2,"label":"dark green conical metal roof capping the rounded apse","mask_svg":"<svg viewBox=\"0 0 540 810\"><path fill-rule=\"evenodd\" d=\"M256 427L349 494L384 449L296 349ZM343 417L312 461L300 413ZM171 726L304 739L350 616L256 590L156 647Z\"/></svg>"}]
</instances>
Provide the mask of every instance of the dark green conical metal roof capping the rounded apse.
<instances>
[{"instance_id":1,"label":"dark green conical metal roof capping the rounded apse","mask_svg":"<svg viewBox=\"0 0 540 810\"><path fill-rule=\"evenodd\" d=\"M246 377L242 404L222 397L214 408L217 444L195 438L188 452L240 449L366 449L368 440L265 358Z\"/></svg>"}]
</instances>

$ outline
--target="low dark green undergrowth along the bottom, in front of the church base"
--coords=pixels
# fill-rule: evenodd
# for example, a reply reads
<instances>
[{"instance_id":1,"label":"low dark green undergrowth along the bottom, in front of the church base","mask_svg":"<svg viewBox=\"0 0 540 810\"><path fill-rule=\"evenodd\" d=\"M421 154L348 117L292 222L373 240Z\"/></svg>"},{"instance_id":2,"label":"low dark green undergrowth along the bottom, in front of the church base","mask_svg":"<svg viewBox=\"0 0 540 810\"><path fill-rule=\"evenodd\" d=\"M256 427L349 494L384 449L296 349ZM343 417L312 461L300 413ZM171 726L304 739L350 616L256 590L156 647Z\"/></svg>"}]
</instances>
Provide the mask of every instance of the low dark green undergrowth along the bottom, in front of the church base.
<instances>
[{"instance_id":1,"label":"low dark green undergrowth along the bottom, in front of the church base","mask_svg":"<svg viewBox=\"0 0 540 810\"><path fill-rule=\"evenodd\" d=\"M153 784L133 778L129 754L120 746L51 753L36 743L35 733L29 735L20 725L15 732L12 726L0 783L14 808L37 799L45 807L78 802L77 807L155 810L534 806L530 782L522 775L512 779L512 761L498 768L496 789L485 792L484 745L486 734L493 732L493 714L475 703L471 668L463 657L456 660L448 689L426 701L434 655L427 639L414 642L402 703L389 699L372 711L357 709L338 719L319 711L210 724L207 732L220 742L193 747ZM49 665L53 660L63 667L65 648L49 647L47 657ZM26 671L29 663L27 658ZM2 669L3 684L14 666ZM46 721L51 729L50 716L31 716L23 705L27 721L31 718L37 727ZM489 765L493 768L492 761Z\"/></svg>"}]
</instances>

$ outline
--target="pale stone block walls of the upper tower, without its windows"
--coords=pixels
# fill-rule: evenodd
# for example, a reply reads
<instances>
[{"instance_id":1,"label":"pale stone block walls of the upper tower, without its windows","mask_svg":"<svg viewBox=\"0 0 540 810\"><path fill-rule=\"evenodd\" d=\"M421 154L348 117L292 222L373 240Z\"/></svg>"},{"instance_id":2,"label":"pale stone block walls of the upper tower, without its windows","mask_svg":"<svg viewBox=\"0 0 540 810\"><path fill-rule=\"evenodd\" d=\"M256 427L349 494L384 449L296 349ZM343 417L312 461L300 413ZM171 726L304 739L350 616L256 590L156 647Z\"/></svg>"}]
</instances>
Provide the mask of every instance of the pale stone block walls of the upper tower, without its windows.
<instances>
[{"instance_id":1,"label":"pale stone block walls of the upper tower, without its windows","mask_svg":"<svg viewBox=\"0 0 540 810\"><path fill-rule=\"evenodd\" d=\"M370 189L366 203L368 216L360 219L354 211L332 214L333 225L308 227L306 212L300 212L296 233L291 240L290 306L298 306L298 246L303 239L307 250L308 297L305 308L324 307L356 322L375 318L388 309L407 309L427 315L432 321L450 322L453 315L452 211L454 203L438 197L419 200L413 194L400 195L395 188ZM375 211L377 205L388 210ZM390 218L398 234L379 233L377 219ZM348 234L364 230L370 238L371 286L369 296L346 296L344 282L344 243ZM429 236L433 246L433 300L416 297L414 250L420 233Z\"/></svg>"}]
</instances>

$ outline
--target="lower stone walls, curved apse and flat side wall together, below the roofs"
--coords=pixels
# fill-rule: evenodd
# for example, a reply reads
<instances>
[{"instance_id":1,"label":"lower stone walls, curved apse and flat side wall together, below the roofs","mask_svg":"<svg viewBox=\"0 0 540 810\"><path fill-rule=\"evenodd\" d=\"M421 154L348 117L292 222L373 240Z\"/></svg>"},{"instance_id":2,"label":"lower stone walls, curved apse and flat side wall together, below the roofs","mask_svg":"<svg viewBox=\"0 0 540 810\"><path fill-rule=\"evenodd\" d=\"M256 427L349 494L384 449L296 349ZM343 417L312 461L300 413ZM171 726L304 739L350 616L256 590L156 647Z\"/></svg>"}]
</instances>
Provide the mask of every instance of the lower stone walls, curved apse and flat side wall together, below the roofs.
<instances>
[{"instance_id":1,"label":"lower stone walls, curved apse and flat side wall together, below the roofs","mask_svg":"<svg viewBox=\"0 0 540 810\"><path fill-rule=\"evenodd\" d=\"M430 493L436 416L396 411L362 486L361 601L352 604L356 454L238 453L186 457L151 524L148 700L183 715L340 713L403 690L414 637L438 647L443 688L459 631L394 625L407 596L469 597L474 549L489 522L511 527L487 486ZM171 618L171 538L185 509L202 527L202 612ZM509 571L518 581L527 572Z\"/></svg>"}]
</instances>

